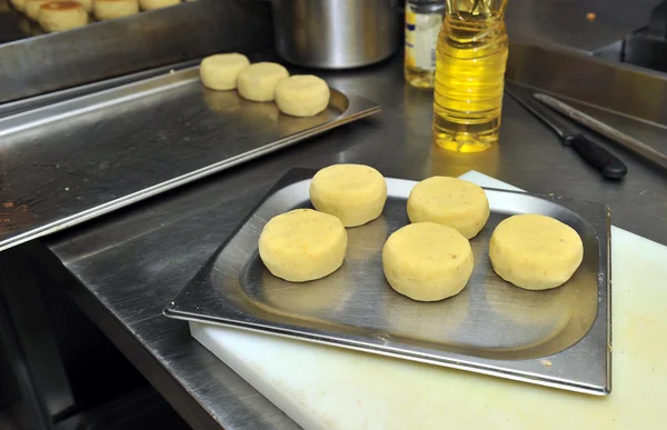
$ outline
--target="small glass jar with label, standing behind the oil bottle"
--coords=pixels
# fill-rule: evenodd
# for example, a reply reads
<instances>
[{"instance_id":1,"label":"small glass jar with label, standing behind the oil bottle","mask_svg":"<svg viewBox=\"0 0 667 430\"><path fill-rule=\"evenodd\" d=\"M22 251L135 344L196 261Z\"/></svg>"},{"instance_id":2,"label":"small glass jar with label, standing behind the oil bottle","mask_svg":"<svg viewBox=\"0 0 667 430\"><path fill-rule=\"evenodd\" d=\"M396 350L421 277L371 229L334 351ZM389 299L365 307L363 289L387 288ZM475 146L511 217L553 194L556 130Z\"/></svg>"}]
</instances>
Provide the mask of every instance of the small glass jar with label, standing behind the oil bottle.
<instances>
[{"instance_id":1,"label":"small glass jar with label, standing behind the oil bottle","mask_svg":"<svg viewBox=\"0 0 667 430\"><path fill-rule=\"evenodd\" d=\"M417 88L434 88L436 49L445 0L407 0L404 74Z\"/></svg>"}]
</instances>

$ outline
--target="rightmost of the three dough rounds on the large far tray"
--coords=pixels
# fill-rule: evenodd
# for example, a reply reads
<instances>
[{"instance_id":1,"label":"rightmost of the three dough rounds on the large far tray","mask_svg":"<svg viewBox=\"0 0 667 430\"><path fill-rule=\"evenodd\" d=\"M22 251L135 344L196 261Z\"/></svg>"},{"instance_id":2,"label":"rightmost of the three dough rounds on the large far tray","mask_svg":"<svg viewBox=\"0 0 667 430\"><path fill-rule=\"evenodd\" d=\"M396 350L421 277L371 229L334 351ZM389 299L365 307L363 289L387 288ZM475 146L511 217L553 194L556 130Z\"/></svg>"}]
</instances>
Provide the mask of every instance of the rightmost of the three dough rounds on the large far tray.
<instances>
[{"instance_id":1,"label":"rightmost of the three dough rounds on the large far tray","mask_svg":"<svg viewBox=\"0 0 667 430\"><path fill-rule=\"evenodd\" d=\"M312 74L297 74L276 87L276 104L292 117L312 117L327 109L329 86Z\"/></svg>"}]
</instances>

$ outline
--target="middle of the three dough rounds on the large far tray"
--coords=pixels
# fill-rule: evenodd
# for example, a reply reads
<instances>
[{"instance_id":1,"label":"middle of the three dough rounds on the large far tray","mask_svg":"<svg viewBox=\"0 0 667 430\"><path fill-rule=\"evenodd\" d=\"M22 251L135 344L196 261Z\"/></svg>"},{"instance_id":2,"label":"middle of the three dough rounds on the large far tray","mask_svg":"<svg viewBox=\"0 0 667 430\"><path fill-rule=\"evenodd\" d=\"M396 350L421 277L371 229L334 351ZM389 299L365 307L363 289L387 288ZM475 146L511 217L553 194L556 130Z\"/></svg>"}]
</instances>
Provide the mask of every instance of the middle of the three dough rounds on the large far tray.
<instances>
[{"instance_id":1,"label":"middle of the three dough rounds on the large far tray","mask_svg":"<svg viewBox=\"0 0 667 430\"><path fill-rule=\"evenodd\" d=\"M275 62L257 62L239 73L239 94L252 101L273 101L276 87L287 78L289 72L282 66Z\"/></svg>"}]
</instances>

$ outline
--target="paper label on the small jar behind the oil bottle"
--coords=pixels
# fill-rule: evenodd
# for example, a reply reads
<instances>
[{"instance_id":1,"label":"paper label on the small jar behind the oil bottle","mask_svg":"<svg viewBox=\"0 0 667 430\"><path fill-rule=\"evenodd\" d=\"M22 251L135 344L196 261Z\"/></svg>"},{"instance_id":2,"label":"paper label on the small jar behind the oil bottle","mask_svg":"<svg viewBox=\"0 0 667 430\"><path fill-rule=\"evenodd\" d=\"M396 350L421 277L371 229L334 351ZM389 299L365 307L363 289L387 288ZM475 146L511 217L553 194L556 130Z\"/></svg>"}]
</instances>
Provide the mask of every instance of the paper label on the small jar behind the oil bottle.
<instances>
[{"instance_id":1,"label":"paper label on the small jar behind the oil bottle","mask_svg":"<svg viewBox=\"0 0 667 430\"><path fill-rule=\"evenodd\" d=\"M439 13L415 13L406 8L406 61L422 70L436 70L436 49L442 17Z\"/></svg>"}]
</instances>

